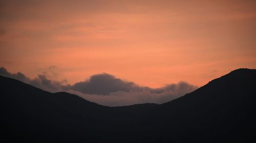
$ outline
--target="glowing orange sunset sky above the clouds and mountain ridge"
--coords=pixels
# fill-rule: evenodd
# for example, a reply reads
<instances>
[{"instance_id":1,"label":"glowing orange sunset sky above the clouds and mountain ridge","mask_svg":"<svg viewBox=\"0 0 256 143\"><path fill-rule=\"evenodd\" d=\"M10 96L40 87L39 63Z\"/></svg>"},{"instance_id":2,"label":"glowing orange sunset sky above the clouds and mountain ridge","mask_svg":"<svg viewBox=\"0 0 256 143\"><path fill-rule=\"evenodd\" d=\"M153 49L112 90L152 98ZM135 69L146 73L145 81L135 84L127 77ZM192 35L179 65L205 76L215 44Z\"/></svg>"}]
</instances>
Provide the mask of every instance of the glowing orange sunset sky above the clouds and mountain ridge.
<instances>
[{"instance_id":1,"label":"glowing orange sunset sky above the clouds and mountain ridge","mask_svg":"<svg viewBox=\"0 0 256 143\"><path fill-rule=\"evenodd\" d=\"M108 73L202 86L256 68L256 1L0 2L0 66L70 84Z\"/></svg>"}]
</instances>

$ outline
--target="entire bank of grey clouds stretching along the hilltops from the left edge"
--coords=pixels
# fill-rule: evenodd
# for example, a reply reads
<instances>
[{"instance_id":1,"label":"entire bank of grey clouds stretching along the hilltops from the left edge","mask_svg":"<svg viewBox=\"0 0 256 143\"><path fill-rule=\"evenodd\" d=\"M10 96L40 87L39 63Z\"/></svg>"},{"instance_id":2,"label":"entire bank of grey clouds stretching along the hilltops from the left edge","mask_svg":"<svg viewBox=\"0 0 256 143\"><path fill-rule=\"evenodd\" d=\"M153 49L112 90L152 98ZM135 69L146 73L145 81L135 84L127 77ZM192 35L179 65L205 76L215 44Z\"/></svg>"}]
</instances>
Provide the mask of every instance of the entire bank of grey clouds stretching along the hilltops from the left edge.
<instances>
[{"instance_id":1,"label":"entire bank of grey clouds stretching along the hilltops from the left edge","mask_svg":"<svg viewBox=\"0 0 256 143\"><path fill-rule=\"evenodd\" d=\"M35 87L51 91L68 91L80 97L106 106L124 106L142 103L165 103L194 91L198 87L187 82L167 84L161 88L151 88L124 81L110 74L97 74L88 80L77 82L74 85L65 85L64 82L54 81L46 75L38 75L34 79L18 72L9 73L6 68L0 67L0 75L14 78Z\"/></svg>"}]
</instances>

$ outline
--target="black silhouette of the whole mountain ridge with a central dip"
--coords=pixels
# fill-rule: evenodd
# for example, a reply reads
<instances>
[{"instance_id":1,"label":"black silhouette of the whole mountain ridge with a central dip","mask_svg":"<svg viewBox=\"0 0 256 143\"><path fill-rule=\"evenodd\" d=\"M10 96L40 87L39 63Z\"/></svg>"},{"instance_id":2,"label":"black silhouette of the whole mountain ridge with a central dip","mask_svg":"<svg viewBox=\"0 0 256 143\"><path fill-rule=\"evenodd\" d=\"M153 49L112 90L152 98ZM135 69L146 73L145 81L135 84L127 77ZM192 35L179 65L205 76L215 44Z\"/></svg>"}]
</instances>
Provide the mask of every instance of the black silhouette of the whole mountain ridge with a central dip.
<instances>
[{"instance_id":1,"label":"black silhouette of the whole mountain ridge with a central dip","mask_svg":"<svg viewBox=\"0 0 256 143\"><path fill-rule=\"evenodd\" d=\"M256 70L237 69L164 104L106 107L0 76L8 142L255 142Z\"/></svg>"}]
</instances>

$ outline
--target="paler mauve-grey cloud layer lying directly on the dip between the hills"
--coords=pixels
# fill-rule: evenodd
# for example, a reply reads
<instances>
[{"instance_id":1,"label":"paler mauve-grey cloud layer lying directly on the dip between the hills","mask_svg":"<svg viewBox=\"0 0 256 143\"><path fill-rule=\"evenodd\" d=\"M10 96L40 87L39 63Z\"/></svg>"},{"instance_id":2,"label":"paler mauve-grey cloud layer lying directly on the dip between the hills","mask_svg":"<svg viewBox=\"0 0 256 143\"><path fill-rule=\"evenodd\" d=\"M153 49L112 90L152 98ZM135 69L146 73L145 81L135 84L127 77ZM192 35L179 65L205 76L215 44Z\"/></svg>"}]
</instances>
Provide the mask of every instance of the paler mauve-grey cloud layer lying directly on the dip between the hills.
<instances>
[{"instance_id":1,"label":"paler mauve-grey cloud layer lying directly on the dip between the hills","mask_svg":"<svg viewBox=\"0 0 256 143\"><path fill-rule=\"evenodd\" d=\"M98 94L84 94L79 91L69 90L69 92L79 95L89 101L94 101L106 106L124 106L142 103L165 103L194 91L197 86L186 82L169 84L162 88L140 87L140 90L130 90L129 92L117 91L100 96Z\"/></svg>"}]
</instances>

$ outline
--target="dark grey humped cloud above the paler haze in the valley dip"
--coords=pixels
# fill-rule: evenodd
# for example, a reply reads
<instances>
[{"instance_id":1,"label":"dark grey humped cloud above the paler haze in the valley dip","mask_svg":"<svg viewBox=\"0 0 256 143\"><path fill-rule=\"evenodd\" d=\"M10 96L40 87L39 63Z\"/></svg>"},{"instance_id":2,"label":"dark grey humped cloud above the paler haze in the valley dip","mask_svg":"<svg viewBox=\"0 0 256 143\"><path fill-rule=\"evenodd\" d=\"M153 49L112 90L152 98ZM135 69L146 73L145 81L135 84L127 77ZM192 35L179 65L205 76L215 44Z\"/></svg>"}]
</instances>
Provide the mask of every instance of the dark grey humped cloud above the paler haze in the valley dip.
<instances>
[{"instance_id":1,"label":"dark grey humped cloud above the paler haze in the valley dip","mask_svg":"<svg viewBox=\"0 0 256 143\"><path fill-rule=\"evenodd\" d=\"M75 83L62 87L65 90L79 91L84 94L101 94L109 95L110 93L122 92L135 92L135 91L148 91L150 93L163 93L166 91L190 91L196 86L190 85L186 82L179 82L178 84L168 84L161 88L150 88L139 86L133 82L123 81L113 75L106 73L91 76L89 80Z\"/></svg>"}]
</instances>

